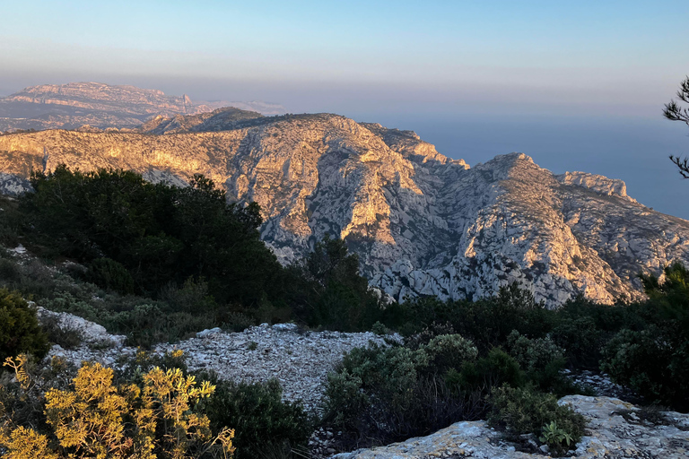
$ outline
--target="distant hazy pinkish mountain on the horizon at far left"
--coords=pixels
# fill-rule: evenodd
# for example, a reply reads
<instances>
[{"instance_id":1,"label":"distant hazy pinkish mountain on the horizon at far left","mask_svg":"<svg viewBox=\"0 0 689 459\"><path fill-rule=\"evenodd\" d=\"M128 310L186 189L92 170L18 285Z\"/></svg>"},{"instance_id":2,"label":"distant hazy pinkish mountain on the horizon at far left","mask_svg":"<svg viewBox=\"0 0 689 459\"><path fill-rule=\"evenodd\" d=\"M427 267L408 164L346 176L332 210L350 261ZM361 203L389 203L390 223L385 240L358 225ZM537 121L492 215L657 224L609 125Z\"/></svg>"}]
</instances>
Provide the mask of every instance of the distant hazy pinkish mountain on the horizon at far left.
<instances>
[{"instance_id":1,"label":"distant hazy pinkish mountain on the horizon at far left","mask_svg":"<svg viewBox=\"0 0 689 459\"><path fill-rule=\"evenodd\" d=\"M187 95L98 82L31 86L0 99L0 132L16 129L133 128L150 117L197 115L232 106L265 115L284 113L267 102L194 102Z\"/></svg>"}]
</instances>

